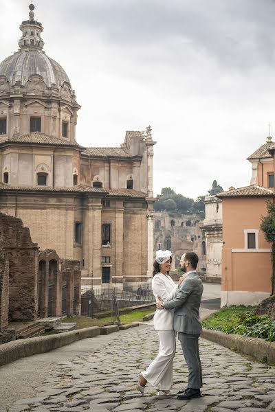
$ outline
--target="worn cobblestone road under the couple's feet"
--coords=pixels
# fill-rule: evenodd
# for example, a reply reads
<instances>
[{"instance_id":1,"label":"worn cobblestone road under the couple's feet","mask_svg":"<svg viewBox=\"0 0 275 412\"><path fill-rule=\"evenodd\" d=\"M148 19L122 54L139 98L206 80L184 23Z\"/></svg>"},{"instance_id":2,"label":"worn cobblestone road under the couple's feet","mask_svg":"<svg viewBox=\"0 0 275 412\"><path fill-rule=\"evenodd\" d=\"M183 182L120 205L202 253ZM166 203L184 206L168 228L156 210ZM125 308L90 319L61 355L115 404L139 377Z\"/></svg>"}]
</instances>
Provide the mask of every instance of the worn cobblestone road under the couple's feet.
<instances>
[{"instance_id":1,"label":"worn cobblestone road under the couple's feet","mask_svg":"<svg viewBox=\"0 0 275 412\"><path fill-rule=\"evenodd\" d=\"M146 387L136 389L137 376L155 357L157 333L153 325L140 325L109 339L93 354L80 352L72 361L56 363L37 388L35 398L18 400L9 412L257 412L275 411L275 367L200 341L203 396L185 401L156 396ZM174 389L186 387L187 369L177 342Z\"/></svg>"}]
</instances>

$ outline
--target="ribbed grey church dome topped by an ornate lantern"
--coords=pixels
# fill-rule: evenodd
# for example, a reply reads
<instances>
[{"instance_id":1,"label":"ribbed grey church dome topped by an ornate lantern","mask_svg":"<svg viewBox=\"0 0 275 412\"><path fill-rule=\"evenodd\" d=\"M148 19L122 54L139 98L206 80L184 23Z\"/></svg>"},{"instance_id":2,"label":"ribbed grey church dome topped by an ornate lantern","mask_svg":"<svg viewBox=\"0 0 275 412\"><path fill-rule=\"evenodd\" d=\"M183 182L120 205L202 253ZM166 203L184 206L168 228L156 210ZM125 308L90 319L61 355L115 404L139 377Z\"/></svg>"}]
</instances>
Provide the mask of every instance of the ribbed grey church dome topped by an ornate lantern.
<instances>
[{"instance_id":1,"label":"ribbed grey church dome topped by an ornate lantern","mask_svg":"<svg viewBox=\"0 0 275 412\"><path fill-rule=\"evenodd\" d=\"M5 76L11 87L15 84L24 87L30 76L39 75L47 87L61 89L63 83L67 82L69 89L72 89L65 70L43 52L43 26L34 20L34 5L30 4L29 8L30 19L23 21L20 26L20 49L0 63L0 76Z\"/></svg>"}]
</instances>

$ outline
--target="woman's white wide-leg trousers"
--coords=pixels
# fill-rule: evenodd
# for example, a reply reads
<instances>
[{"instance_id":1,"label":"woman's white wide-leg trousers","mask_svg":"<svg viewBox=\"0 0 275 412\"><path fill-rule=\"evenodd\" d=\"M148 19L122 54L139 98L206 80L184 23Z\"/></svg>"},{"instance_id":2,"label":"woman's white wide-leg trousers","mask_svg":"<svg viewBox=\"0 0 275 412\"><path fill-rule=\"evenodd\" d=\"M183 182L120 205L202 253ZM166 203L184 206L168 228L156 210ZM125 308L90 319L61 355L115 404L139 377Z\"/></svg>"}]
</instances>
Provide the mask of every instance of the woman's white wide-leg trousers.
<instances>
[{"instance_id":1,"label":"woman's white wide-leg trousers","mask_svg":"<svg viewBox=\"0 0 275 412\"><path fill-rule=\"evenodd\" d=\"M166 390L173 386L173 358L176 351L175 330L157 330L159 353L142 376L156 389Z\"/></svg>"}]
</instances>

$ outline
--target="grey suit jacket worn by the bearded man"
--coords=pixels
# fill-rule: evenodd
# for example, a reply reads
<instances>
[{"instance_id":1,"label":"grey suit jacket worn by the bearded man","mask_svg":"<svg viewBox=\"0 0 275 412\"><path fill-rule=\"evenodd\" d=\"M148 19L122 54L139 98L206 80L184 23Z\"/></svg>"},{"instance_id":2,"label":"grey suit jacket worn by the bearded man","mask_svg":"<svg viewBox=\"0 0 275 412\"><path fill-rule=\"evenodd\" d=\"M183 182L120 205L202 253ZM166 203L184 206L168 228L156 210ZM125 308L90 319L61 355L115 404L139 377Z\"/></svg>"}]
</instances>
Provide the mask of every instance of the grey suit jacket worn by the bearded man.
<instances>
[{"instance_id":1,"label":"grey suit jacket worn by the bearded man","mask_svg":"<svg viewBox=\"0 0 275 412\"><path fill-rule=\"evenodd\" d=\"M199 306L203 284L197 273L190 272L188 277L179 286L175 299L164 301L165 310L175 309L174 330L188 334L201 334L201 319Z\"/></svg>"}]
</instances>

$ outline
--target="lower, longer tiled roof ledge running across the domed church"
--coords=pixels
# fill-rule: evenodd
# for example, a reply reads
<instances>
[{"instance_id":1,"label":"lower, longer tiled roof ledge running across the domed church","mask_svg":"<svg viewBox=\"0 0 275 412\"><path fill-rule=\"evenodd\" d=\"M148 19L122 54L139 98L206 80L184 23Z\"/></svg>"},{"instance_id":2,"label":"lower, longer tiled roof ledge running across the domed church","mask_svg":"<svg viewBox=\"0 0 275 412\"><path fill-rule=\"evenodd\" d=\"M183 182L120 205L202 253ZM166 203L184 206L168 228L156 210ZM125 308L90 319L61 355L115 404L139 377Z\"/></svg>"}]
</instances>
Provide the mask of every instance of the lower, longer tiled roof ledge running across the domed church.
<instances>
[{"instance_id":1,"label":"lower, longer tiled roof ledge running across the domed church","mask_svg":"<svg viewBox=\"0 0 275 412\"><path fill-rule=\"evenodd\" d=\"M98 193L104 196L122 196L131 198L145 198L144 192L139 192L133 189L107 189L104 187L91 187L86 185L78 185L72 187L50 187L50 186L11 186L0 183L0 191L19 192L71 192L71 193Z\"/></svg>"}]
</instances>

